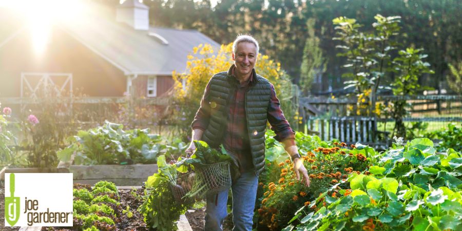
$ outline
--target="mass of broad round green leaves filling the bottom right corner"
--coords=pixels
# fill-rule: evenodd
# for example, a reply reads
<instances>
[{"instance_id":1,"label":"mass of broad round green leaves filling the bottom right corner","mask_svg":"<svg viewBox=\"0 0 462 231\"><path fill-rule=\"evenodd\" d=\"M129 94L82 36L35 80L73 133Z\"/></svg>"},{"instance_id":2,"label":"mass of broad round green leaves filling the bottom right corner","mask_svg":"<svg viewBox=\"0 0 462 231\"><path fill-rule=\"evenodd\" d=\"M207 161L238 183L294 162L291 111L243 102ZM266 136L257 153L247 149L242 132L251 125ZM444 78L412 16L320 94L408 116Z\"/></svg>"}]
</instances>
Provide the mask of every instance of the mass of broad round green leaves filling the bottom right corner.
<instances>
[{"instance_id":1,"label":"mass of broad round green leaves filling the bottom right corner","mask_svg":"<svg viewBox=\"0 0 462 231\"><path fill-rule=\"evenodd\" d=\"M415 139L385 152L369 172L301 207L284 230L462 230L460 153L439 154L429 139Z\"/></svg>"}]
</instances>

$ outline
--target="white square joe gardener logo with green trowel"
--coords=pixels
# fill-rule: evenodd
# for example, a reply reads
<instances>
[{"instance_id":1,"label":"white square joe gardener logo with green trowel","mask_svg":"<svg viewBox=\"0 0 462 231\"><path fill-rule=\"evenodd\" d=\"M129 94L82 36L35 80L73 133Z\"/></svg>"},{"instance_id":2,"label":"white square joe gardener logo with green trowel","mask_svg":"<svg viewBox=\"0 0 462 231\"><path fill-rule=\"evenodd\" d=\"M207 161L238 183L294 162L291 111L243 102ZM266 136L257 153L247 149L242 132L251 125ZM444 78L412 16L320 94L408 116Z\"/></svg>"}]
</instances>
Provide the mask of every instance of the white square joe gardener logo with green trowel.
<instances>
[{"instance_id":1,"label":"white square joe gardener logo with green trowel","mask_svg":"<svg viewBox=\"0 0 462 231\"><path fill-rule=\"evenodd\" d=\"M72 226L72 174L5 174L5 226Z\"/></svg>"}]
</instances>

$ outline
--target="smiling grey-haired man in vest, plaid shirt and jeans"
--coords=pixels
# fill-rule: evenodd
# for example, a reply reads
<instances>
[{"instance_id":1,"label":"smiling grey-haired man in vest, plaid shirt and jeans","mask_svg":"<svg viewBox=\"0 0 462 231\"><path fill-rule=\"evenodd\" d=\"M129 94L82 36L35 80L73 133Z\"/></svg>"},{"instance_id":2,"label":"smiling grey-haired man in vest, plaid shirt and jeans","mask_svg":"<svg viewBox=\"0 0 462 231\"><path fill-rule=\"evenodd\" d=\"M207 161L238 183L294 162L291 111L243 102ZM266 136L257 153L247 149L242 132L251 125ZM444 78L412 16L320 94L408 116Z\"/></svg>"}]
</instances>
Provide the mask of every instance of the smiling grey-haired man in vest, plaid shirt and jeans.
<instances>
[{"instance_id":1,"label":"smiling grey-haired man in vest, plaid shirt and jeans","mask_svg":"<svg viewBox=\"0 0 462 231\"><path fill-rule=\"evenodd\" d=\"M233 182L233 230L252 230L258 175L265 158L264 134L267 121L295 163L297 179L310 185L295 145L292 130L280 108L273 84L255 72L258 42L249 35L240 35L233 43L234 64L226 72L215 74L207 84L201 106L192 121L192 140L203 140L210 147L224 148L239 164L240 177ZM196 149L191 142L186 153ZM207 198L206 231L222 230L227 216L228 191Z\"/></svg>"}]
</instances>

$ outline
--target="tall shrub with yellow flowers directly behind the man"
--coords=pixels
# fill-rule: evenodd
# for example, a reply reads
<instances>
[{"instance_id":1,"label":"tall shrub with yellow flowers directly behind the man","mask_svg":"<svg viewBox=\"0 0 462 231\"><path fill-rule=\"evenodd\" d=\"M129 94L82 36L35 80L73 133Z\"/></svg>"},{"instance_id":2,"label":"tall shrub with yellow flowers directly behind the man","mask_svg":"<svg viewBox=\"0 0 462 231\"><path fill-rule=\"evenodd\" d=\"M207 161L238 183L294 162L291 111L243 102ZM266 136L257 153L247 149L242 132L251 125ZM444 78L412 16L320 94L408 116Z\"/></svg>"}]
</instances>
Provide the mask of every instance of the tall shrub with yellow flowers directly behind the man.
<instances>
[{"instance_id":1,"label":"tall shrub with yellow flowers directly behind the man","mask_svg":"<svg viewBox=\"0 0 462 231\"><path fill-rule=\"evenodd\" d=\"M214 74L227 71L233 64L232 45L221 45L219 50L214 50L209 44L201 44L187 56L186 72L172 74L176 104L175 110L172 110L172 118L176 118L175 122L186 136L190 132L189 125L200 106L208 81ZM286 119L293 121L298 106L291 102L293 84L281 69L281 64L269 59L267 55L258 54L255 70L274 85ZM297 126L297 122L292 122L291 125L296 129L294 126Z\"/></svg>"}]
</instances>

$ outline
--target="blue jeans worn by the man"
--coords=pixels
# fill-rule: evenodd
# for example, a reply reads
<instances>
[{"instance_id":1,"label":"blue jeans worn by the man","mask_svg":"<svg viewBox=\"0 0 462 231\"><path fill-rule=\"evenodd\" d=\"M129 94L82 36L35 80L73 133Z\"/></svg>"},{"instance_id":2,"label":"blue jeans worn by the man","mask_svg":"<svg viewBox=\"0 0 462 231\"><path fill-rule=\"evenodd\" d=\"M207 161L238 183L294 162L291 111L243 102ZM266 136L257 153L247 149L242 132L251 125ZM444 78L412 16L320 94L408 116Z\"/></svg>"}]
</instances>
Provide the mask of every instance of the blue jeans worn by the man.
<instances>
[{"instance_id":1,"label":"blue jeans worn by the man","mask_svg":"<svg viewBox=\"0 0 462 231\"><path fill-rule=\"evenodd\" d=\"M233 231L252 231L258 177L253 170L243 172L231 186L233 193ZM216 200L218 199L218 200ZM226 204L228 191L207 197L205 231L222 231L223 221L228 215Z\"/></svg>"}]
</instances>

